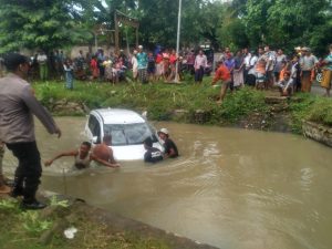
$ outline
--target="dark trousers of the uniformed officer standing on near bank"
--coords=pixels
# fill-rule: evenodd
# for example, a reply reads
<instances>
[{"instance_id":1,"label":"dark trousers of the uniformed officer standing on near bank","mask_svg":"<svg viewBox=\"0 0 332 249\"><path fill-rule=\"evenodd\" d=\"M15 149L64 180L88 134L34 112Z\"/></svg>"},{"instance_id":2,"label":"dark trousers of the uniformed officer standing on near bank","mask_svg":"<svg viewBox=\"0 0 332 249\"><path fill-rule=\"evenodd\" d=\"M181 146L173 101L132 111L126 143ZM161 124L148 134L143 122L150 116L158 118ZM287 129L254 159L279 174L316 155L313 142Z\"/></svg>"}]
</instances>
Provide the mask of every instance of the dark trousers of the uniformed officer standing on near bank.
<instances>
[{"instance_id":1,"label":"dark trousers of the uniformed officer standing on near bank","mask_svg":"<svg viewBox=\"0 0 332 249\"><path fill-rule=\"evenodd\" d=\"M14 189L21 189L23 201L32 203L35 200L35 193L40 184L42 167L40 153L35 142L6 144L12 154L18 158L19 166L14 176Z\"/></svg>"}]
</instances>

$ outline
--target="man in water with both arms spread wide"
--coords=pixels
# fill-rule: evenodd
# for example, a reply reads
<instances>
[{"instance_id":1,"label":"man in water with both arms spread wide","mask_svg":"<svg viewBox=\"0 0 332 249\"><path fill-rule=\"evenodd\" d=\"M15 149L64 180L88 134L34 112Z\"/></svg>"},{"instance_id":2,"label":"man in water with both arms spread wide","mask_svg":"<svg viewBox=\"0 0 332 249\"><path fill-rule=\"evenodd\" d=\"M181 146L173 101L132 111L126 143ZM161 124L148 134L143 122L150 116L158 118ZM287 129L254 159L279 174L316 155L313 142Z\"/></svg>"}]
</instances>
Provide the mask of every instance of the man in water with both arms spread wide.
<instances>
[{"instance_id":1,"label":"man in water with both arms spread wide","mask_svg":"<svg viewBox=\"0 0 332 249\"><path fill-rule=\"evenodd\" d=\"M93 155L90 151L91 151L91 143L83 142L79 149L60 153L54 158L44 162L44 164L45 164L45 166L51 166L51 164L53 164L53 162L60 157L73 156L74 157L74 167L76 169L83 169L83 168L90 167L91 160L95 160L106 167L118 167L117 164L113 164L113 163L110 163L108 160L100 158L100 157Z\"/></svg>"}]
</instances>

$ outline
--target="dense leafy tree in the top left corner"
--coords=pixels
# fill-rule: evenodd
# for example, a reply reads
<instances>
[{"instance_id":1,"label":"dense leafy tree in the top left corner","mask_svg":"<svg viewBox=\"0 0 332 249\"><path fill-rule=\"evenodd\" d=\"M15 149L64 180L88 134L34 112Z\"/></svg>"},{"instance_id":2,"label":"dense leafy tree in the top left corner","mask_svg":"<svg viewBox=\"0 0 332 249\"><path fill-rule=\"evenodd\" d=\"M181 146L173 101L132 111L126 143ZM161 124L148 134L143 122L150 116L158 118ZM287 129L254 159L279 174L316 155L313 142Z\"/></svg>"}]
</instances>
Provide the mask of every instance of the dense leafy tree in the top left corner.
<instances>
[{"instance_id":1,"label":"dense leafy tree in the top left corner","mask_svg":"<svg viewBox=\"0 0 332 249\"><path fill-rule=\"evenodd\" d=\"M75 21L75 3L70 0L0 0L0 52L22 48L54 48L83 42L91 34Z\"/></svg>"}]
</instances>

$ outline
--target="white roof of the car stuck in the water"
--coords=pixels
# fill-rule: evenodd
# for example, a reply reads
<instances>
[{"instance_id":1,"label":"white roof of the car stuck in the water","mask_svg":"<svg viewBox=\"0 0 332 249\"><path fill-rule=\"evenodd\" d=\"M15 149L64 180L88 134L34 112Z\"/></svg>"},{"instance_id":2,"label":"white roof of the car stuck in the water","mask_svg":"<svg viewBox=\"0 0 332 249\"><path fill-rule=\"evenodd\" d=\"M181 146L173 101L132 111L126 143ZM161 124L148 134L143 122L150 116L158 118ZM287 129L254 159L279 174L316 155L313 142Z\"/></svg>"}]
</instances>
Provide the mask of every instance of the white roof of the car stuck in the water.
<instances>
[{"instance_id":1,"label":"white roof of the car stuck in the water","mask_svg":"<svg viewBox=\"0 0 332 249\"><path fill-rule=\"evenodd\" d=\"M97 108L91 111L100 116L104 124L136 124L145 123L145 120L136 112L125 108Z\"/></svg>"}]
</instances>

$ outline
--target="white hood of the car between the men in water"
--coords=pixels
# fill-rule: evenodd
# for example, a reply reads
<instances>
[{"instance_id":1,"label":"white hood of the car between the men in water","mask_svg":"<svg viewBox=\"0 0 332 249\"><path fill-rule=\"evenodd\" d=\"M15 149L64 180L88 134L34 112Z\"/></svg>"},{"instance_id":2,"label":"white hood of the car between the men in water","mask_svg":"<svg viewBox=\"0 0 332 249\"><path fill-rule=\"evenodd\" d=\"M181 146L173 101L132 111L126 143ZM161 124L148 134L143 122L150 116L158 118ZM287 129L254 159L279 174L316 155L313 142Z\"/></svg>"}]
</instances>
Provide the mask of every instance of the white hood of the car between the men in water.
<instances>
[{"instance_id":1,"label":"white hood of the car between the men in water","mask_svg":"<svg viewBox=\"0 0 332 249\"><path fill-rule=\"evenodd\" d=\"M153 146L163 152L163 146L159 143L154 143ZM143 160L146 152L143 144L112 146L112 149L115 160Z\"/></svg>"}]
</instances>

